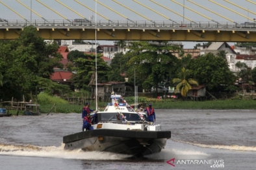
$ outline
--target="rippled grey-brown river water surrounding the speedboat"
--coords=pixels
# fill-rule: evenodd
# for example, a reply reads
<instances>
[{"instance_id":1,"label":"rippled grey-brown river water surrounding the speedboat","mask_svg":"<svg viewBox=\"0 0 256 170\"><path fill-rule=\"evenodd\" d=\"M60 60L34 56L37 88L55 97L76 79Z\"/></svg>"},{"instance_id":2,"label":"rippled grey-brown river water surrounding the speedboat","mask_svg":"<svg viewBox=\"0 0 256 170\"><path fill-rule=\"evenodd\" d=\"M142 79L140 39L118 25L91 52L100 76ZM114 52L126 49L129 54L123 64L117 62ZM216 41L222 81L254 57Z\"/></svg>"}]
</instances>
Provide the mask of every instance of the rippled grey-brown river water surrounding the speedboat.
<instances>
[{"instance_id":1,"label":"rippled grey-brown river water surrounding the speedboat","mask_svg":"<svg viewBox=\"0 0 256 170\"><path fill-rule=\"evenodd\" d=\"M114 153L64 151L62 136L81 131L81 114L0 118L0 169L256 169L253 110L155 109L172 138L144 160ZM169 163L169 164L168 164Z\"/></svg>"}]
</instances>

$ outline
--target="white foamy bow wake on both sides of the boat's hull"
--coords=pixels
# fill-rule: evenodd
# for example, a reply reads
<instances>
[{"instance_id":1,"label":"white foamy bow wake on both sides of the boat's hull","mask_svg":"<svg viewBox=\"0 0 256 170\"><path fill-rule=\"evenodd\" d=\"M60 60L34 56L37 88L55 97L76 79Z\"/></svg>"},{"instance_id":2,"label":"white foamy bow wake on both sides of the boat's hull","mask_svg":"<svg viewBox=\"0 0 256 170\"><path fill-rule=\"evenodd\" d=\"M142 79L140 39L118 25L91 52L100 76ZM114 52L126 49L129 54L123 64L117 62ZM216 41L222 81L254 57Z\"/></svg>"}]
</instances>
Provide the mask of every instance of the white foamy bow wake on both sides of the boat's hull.
<instances>
[{"instance_id":1,"label":"white foamy bow wake on both sides of the boat's hull","mask_svg":"<svg viewBox=\"0 0 256 170\"><path fill-rule=\"evenodd\" d=\"M44 158L64 158L77 160L129 160L130 155L98 151L65 150L60 147L41 147L36 145L8 145L0 144L0 155L32 156ZM196 156L196 157L195 157ZM199 151L183 151L179 149L162 149L160 153L145 156L147 160L169 160L170 158L206 158L209 154Z\"/></svg>"}]
</instances>

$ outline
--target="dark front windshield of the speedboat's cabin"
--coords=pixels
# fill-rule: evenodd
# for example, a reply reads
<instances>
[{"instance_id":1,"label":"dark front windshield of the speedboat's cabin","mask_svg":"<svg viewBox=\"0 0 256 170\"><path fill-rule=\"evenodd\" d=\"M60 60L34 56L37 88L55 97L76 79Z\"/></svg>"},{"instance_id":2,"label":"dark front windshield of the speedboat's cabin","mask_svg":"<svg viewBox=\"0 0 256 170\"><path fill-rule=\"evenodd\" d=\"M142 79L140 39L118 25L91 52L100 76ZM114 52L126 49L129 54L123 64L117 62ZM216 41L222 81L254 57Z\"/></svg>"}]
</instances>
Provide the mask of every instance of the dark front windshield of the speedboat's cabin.
<instances>
[{"instance_id":1,"label":"dark front windshield of the speedboat's cabin","mask_svg":"<svg viewBox=\"0 0 256 170\"><path fill-rule=\"evenodd\" d=\"M123 113L127 121L140 121L140 116L136 113ZM122 115L118 112L113 113L99 113L99 121L124 121ZM146 115L144 115L144 118Z\"/></svg>"}]
</instances>

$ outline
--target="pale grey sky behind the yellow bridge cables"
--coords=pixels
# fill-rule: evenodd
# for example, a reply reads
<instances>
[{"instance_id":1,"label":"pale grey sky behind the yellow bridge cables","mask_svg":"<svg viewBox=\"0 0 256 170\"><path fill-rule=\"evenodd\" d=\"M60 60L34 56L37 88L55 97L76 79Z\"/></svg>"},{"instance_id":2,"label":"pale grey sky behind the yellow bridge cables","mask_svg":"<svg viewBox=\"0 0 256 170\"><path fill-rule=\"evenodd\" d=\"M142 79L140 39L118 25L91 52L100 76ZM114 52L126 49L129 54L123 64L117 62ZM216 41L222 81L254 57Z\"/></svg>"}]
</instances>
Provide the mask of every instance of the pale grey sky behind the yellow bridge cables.
<instances>
[{"instance_id":1,"label":"pale grey sky behind the yellow bridge cables","mask_svg":"<svg viewBox=\"0 0 256 170\"><path fill-rule=\"evenodd\" d=\"M27 9L25 6L28 6L29 8L32 8L38 15L31 12L31 10ZM91 10L88 10L88 8L85 8L84 6L77 3L75 0L0 0L0 2L3 2L6 6L17 12L13 12L8 7L3 5L3 3L0 3L0 18L8 19L8 20L16 20L16 19L42 19L41 17L44 17L47 20L53 20L53 19L77 19L77 18L83 18L86 17L90 19L90 17L94 16L94 18L99 20L106 20L104 17L101 17L97 15L95 17L95 13ZM49 6L51 9L58 12L56 14L49 8L45 7L38 1L44 3L45 5ZM66 8L64 5L61 5L58 3L60 1L64 5L68 6L72 10L75 10L78 14L73 12L72 10ZM113 0L97 0L99 3L103 3L104 5L109 6L109 8L112 8L112 10L115 10L119 14L116 14L112 10L109 10L105 6L96 3L94 0L77 0L80 3L88 6L92 10L97 10L99 14L102 16L107 17L110 20L126 20L127 18L131 20L146 20L151 19L153 21L168 21L168 19L171 19L172 21L179 21L179 22L185 22L190 23L190 21L195 22L209 22L211 20L218 21L219 23L244 23L244 22L253 22L253 19L256 18L256 0L115 0L118 3L122 3L123 5L127 6L128 8L131 8L132 10L138 12L140 15L135 14L131 10L128 10L127 8L118 5L118 3L115 3ZM148 6L151 8L149 10L148 8L140 5L139 2L143 5ZM162 6L165 6L166 8L170 9L167 10L166 8L162 8L162 6L159 6L152 1L155 1L156 3L159 3ZM192 3L192 2L193 3ZM214 1L215 3L213 3ZM253 3L250 3L253 2ZM183 6L178 5L177 3L181 5L185 5L187 8L183 8ZM204 8L201 8L198 5L195 5L194 3L201 5ZM226 8L216 5L216 3L225 6ZM240 7L238 7L238 6ZM194 10L189 10L188 8ZM152 10L155 10L156 12L159 12L157 14L156 12L153 12ZM212 10L213 12L216 12L216 14L219 14L221 16L218 16L209 10ZM198 12L198 14L196 13ZM236 14L237 12L238 14ZM179 15L177 15L177 14ZM161 15L160 15L161 14ZM184 15L183 15L184 14ZM83 16L83 17L82 17ZM144 16L144 17L142 17ZM184 16L184 17L183 17ZM146 18L145 18L146 17ZM101 44L109 44L110 41L102 41ZM193 48L194 45L196 45L198 42L183 42L185 45L185 48ZM233 44L233 43L229 43Z\"/></svg>"}]
</instances>

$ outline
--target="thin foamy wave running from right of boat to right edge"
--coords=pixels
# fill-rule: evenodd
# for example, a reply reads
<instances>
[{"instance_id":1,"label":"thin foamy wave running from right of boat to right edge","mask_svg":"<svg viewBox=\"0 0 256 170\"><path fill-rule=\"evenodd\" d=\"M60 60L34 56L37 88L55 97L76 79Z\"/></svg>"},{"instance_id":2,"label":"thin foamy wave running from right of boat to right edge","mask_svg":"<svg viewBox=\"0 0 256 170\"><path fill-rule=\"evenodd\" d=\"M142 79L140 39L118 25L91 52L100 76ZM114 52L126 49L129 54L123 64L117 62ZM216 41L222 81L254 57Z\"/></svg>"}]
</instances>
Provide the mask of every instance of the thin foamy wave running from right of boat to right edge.
<instances>
[{"instance_id":1,"label":"thin foamy wave running from right of boat to right edge","mask_svg":"<svg viewBox=\"0 0 256 170\"><path fill-rule=\"evenodd\" d=\"M213 149L227 149L233 151L256 151L256 146L241 146L241 145L205 145L200 143L191 143L191 142L183 142L179 140L174 140L175 142L186 143L189 145L196 145L198 147L208 147Z\"/></svg>"}]
</instances>

